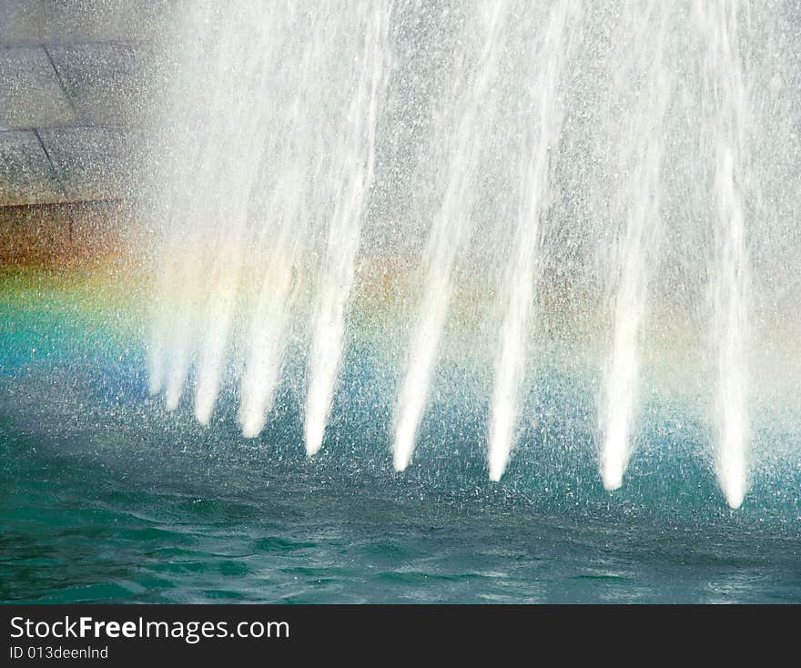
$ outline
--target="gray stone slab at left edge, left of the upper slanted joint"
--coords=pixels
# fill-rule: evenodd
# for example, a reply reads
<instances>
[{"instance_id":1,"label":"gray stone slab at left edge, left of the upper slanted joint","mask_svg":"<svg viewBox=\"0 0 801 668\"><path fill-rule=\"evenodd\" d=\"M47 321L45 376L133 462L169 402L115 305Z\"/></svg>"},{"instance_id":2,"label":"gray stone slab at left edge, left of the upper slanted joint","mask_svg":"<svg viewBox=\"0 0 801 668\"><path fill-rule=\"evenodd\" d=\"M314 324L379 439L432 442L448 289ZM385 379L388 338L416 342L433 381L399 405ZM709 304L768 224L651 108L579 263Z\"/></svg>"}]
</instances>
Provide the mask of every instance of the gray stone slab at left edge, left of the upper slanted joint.
<instances>
[{"instance_id":1,"label":"gray stone slab at left edge, left of the upper slanted joint","mask_svg":"<svg viewBox=\"0 0 801 668\"><path fill-rule=\"evenodd\" d=\"M0 130L63 126L76 115L40 46L0 47Z\"/></svg>"}]
</instances>

